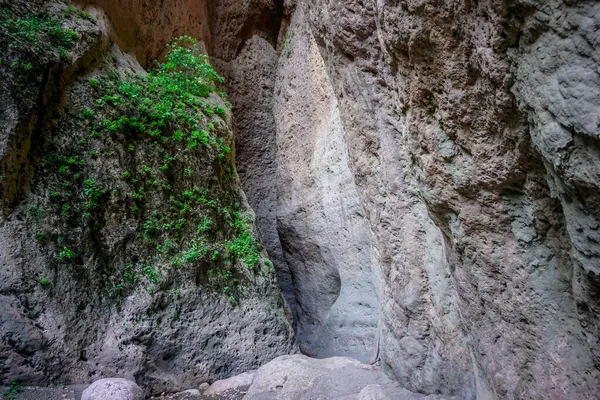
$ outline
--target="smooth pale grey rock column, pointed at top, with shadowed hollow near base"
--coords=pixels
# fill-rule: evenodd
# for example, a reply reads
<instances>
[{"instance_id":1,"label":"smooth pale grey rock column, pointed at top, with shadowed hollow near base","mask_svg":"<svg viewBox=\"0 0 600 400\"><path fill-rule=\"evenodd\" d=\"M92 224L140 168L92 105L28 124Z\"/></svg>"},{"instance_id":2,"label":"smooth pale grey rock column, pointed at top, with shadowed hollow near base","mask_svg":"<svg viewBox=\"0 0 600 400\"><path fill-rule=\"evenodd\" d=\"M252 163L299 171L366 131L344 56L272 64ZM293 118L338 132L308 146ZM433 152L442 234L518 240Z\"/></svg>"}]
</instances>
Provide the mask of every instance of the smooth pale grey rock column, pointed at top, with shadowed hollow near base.
<instances>
[{"instance_id":1,"label":"smooth pale grey rock column, pointed at top, with shadowed hollow near base","mask_svg":"<svg viewBox=\"0 0 600 400\"><path fill-rule=\"evenodd\" d=\"M317 44L296 13L279 58L277 228L298 302L297 339L316 357L371 358L379 301L344 127Z\"/></svg>"}]
</instances>

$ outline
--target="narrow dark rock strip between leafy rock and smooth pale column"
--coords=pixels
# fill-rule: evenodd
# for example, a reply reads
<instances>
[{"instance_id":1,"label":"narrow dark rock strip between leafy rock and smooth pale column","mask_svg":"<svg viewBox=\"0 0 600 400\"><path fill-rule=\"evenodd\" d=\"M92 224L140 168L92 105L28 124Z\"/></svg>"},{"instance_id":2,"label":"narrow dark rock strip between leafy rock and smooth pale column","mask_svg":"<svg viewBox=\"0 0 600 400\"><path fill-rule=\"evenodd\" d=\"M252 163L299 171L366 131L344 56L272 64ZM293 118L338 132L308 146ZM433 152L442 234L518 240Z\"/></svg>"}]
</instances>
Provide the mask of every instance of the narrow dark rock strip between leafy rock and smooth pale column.
<instances>
[{"instance_id":1,"label":"narrow dark rock strip between leafy rock and smooth pale column","mask_svg":"<svg viewBox=\"0 0 600 400\"><path fill-rule=\"evenodd\" d=\"M237 122L236 166L277 279L297 320L290 270L283 258L277 232L277 139L273 90L277 53L260 36L251 37L235 59L217 61L227 78Z\"/></svg>"}]
</instances>

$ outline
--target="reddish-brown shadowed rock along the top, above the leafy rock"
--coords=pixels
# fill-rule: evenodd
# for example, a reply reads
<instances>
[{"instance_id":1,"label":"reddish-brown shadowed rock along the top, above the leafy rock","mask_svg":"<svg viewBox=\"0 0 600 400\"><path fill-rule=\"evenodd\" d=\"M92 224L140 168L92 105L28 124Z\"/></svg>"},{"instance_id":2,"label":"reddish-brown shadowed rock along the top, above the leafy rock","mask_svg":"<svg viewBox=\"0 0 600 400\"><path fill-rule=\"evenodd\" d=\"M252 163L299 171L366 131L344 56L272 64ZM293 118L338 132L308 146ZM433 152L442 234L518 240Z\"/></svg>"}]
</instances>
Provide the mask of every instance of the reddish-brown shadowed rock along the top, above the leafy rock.
<instances>
[{"instance_id":1,"label":"reddish-brown shadowed rock along the top, above the leafy rock","mask_svg":"<svg viewBox=\"0 0 600 400\"><path fill-rule=\"evenodd\" d=\"M172 37L190 35L202 40L210 55L229 61L246 40L259 35L272 40L279 32L281 6L272 0L93 0L83 4L105 10L115 27L113 37L142 65L164 53Z\"/></svg>"}]
</instances>

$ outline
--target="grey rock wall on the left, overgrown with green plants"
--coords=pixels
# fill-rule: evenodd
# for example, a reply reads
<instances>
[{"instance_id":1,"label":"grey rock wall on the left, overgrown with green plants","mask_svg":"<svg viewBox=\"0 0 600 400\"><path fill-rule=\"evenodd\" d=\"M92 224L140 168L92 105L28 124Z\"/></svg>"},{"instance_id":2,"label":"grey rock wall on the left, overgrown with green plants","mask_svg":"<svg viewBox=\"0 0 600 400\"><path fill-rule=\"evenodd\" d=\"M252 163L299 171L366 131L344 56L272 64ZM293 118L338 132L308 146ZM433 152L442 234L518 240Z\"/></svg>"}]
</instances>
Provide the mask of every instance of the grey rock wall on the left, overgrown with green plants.
<instances>
[{"instance_id":1,"label":"grey rock wall on the left, overgrown with green plants","mask_svg":"<svg viewBox=\"0 0 600 400\"><path fill-rule=\"evenodd\" d=\"M154 394L294 352L223 99L153 89L99 9L0 4L1 383Z\"/></svg>"}]
</instances>

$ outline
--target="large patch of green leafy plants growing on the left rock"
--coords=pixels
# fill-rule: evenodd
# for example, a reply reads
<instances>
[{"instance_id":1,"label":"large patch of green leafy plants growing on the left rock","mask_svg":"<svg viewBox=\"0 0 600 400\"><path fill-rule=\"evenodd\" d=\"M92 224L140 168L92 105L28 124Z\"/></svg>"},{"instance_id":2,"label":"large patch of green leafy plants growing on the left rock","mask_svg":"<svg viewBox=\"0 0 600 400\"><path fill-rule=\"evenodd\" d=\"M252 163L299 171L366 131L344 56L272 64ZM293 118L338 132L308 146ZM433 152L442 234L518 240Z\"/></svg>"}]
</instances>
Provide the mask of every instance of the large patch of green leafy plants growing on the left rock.
<instances>
[{"instance_id":1,"label":"large patch of green leafy plants growing on the left rock","mask_svg":"<svg viewBox=\"0 0 600 400\"><path fill-rule=\"evenodd\" d=\"M262 247L251 221L238 211L231 149L219 137L226 108L206 99L223 96L222 78L196 42L182 37L145 76L115 73L87 82L94 106L81 109L79 117L88 134L47 157L58 177L49 197L63 221L57 259L76 259L72 226L90 224L108 203L119 204L123 218L137 221L143 250L113 277L113 294L138 284L153 291L166 269L191 268L205 271L234 299L241 284L235 263L254 269ZM127 168L97 182L90 166L108 160ZM205 177L206 188L198 186L207 165L201 160L212 160L220 174L216 181Z\"/></svg>"}]
</instances>

